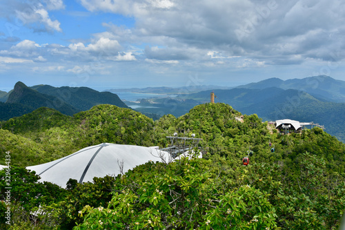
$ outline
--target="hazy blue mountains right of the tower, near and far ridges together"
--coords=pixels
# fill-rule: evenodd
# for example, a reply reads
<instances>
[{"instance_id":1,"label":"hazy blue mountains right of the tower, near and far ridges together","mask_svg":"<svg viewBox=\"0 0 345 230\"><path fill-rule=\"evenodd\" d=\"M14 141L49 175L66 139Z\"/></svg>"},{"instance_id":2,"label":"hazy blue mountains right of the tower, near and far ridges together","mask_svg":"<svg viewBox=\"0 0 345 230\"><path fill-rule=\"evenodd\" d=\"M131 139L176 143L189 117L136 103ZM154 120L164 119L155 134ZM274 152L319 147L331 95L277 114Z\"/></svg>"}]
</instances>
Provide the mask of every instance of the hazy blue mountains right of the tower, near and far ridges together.
<instances>
[{"instance_id":1,"label":"hazy blue mountains right of the tower, near and far ridges together","mask_svg":"<svg viewBox=\"0 0 345 230\"><path fill-rule=\"evenodd\" d=\"M215 102L230 104L241 113L256 113L263 120L295 119L324 125L326 131L345 141L345 82L327 76L283 81L277 78L238 86L214 89ZM210 91L180 95L205 103Z\"/></svg>"}]
</instances>

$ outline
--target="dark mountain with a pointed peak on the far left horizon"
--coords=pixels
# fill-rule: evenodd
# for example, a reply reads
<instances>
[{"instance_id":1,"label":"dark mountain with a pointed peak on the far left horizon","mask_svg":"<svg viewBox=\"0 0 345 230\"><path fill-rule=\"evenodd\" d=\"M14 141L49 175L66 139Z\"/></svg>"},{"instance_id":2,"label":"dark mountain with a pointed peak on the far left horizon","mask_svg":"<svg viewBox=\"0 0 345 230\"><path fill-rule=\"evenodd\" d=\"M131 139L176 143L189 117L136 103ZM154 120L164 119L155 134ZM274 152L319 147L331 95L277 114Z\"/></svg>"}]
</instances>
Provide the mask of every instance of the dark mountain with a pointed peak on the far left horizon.
<instances>
[{"instance_id":1,"label":"dark mountain with a pointed peak on the far left horizon","mask_svg":"<svg viewBox=\"0 0 345 230\"><path fill-rule=\"evenodd\" d=\"M13 90L0 94L0 120L18 117L40 107L54 108L63 114L73 115L98 104L128 108L117 95L110 92L98 92L87 87L28 87L23 82L17 82Z\"/></svg>"}]
</instances>

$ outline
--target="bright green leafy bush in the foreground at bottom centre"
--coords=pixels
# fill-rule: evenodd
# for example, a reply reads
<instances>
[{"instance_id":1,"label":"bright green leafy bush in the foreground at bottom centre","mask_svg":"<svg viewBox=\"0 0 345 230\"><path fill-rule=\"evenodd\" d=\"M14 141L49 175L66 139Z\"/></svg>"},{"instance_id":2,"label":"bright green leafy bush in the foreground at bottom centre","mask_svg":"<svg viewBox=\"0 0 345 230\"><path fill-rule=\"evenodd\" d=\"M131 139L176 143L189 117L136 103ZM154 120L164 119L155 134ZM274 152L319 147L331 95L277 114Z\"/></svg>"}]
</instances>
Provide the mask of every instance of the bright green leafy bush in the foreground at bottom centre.
<instances>
[{"instance_id":1,"label":"bright green leafy bush in the foreground at bottom centre","mask_svg":"<svg viewBox=\"0 0 345 230\"><path fill-rule=\"evenodd\" d=\"M275 229L266 193L224 186L216 172L199 158L139 166L117 178L106 206L84 207L75 229Z\"/></svg>"}]
</instances>

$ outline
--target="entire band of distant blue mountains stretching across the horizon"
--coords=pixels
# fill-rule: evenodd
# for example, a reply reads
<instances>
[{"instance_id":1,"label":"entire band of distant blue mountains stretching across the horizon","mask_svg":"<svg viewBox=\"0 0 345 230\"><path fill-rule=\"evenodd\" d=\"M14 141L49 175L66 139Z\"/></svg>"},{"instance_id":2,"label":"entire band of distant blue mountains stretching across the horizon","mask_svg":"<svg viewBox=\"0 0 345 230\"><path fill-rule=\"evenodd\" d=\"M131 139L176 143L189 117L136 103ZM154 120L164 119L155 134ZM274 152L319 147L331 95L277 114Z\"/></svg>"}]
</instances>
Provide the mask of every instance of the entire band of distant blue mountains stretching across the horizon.
<instances>
[{"instance_id":1,"label":"entire band of distant blue mountains stretching across the horizon","mask_svg":"<svg viewBox=\"0 0 345 230\"><path fill-rule=\"evenodd\" d=\"M211 88L215 87L215 88ZM296 119L300 122L315 122L324 125L326 131L345 142L345 82L328 76L304 79L270 78L236 88L219 86L188 86L181 88L149 87L126 89L134 93L179 93L177 97L142 99L135 103L136 111L153 119L172 114L179 117L197 106L210 102L210 92L215 102L226 103L244 114L256 113L265 120ZM206 90L201 90L206 88ZM224 89L225 88L225 89ZM182 92L187 92L183 94ZM200 90L197 93L191 93ZM2 102L1 102L2 101ZM6 103L3 103L3 102ZM110 92L98 92L86 87L53 87L37 85L27 87L18 82L9 93L0 92L0 119L6 120L46 106L66 115L87 111L97 104L113 104L128 108Z\"/></svg>"}]
</instances>

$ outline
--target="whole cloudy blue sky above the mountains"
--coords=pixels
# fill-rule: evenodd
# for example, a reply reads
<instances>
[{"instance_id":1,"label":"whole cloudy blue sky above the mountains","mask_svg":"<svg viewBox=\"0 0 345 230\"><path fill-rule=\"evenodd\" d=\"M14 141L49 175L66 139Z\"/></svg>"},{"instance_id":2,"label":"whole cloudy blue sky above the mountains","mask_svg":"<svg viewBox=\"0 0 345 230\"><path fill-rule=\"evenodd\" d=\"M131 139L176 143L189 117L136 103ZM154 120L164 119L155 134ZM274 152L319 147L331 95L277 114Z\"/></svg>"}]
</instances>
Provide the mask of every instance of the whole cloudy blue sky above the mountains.
<instances>
[{"instance_id":1,"label":"whole cloudy blue sky above the mountains","mask_svg":"<svg viewBox=\"0 0 345 230\"><path fill-rule=\"evenodd\" d=\"M345 80L342 0L2 0L0 90Z\"/></svg>"}]
</instances>

